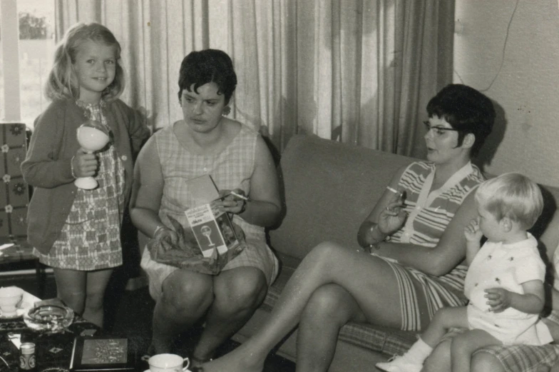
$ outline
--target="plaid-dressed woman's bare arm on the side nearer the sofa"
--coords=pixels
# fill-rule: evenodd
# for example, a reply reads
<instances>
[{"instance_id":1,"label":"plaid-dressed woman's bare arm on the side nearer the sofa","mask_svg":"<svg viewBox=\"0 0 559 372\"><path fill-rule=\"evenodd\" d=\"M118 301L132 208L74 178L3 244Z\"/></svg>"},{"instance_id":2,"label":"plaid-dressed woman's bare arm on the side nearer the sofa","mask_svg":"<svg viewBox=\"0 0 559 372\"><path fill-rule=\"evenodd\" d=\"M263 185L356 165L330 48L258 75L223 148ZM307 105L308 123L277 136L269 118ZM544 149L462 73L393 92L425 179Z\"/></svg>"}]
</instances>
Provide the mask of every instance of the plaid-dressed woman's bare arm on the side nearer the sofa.
<instances>
[{"instance_id":1,"label":"plaid-dressed woman's bare arm on the side nearer the sofa","mask_svg":"<svg viewBox=\"0 0 559 372\"><path fill-rule=\"evenodd\" d=\"M258 136L256 141L255 170L250 177L250 201L240 216L257 226L273 226L281 211L277 173L270 150Z\"/></svg>"}]
</instances>

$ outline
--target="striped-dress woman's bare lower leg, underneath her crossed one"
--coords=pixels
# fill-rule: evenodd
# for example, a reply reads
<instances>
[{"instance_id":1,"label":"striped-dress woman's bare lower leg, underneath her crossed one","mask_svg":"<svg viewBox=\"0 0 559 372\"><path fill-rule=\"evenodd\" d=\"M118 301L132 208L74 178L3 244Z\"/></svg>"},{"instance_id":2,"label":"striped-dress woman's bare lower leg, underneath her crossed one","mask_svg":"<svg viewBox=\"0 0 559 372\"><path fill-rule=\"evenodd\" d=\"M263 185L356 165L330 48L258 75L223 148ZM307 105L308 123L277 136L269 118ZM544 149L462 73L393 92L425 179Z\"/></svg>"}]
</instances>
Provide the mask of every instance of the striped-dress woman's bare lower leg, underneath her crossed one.
<instances>
[{"instance_id":1,"label":"striped-dress woman's bare lower leg, underneath her crossed one","mask_svg":"<svg viewBox=\"0 0 559 372\"><path fill-rule=\"evenodd\" d=\"M327 371L339 330L348 321L366 321L349 292L337 284L326 284L314 291L297 330L296 371Z\"/></svg>"}]
</instances>

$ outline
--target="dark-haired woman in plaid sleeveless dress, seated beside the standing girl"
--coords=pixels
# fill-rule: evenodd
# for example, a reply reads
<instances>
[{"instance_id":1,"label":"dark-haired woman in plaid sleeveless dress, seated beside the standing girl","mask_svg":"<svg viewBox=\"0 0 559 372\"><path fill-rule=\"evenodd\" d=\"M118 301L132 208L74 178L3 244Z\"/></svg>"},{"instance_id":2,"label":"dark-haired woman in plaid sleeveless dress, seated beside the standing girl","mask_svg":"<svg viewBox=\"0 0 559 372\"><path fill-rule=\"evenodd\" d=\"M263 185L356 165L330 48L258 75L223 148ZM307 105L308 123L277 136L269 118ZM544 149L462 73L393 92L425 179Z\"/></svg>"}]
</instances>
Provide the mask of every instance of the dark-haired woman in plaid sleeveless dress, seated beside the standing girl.
<instances>
[{"instance_id":1,"label":"dark-haired woman in plaid sleeveless dress, seated beside the standing girl","mask_svg":"<svg viewBox=\"0 0 559 372\"><path fill-rule=\"evenodd\" d=\"M245 243L217 275L154 261L145 249L141 266L155 299L148 353L168 353L179 333L205 321L190 360L194 366L238 331L264 300L278 262L265 241L281 205L275 164L257 132L228 119L237 76L223 51L193 51L179 71L183 120L155 133L135 167L130 216L149 238L177 241L169 216L188 228L185 210L194 206L188 180L209 174L219 189L222 211L242 228ZM233 192L233 193L232 193Z\"/></svg>"}]
</instances>

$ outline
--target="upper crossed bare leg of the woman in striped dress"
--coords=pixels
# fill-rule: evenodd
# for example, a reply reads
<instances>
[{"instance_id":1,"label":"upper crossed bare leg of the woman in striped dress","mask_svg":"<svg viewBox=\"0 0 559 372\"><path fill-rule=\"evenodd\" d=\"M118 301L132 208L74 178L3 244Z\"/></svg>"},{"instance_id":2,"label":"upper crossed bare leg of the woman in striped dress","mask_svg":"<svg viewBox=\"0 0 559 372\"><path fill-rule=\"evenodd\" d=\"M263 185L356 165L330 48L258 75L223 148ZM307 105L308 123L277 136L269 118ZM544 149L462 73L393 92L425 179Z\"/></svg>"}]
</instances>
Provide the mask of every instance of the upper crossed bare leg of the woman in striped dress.
<instances>
[{"instance_id":1,"label":"upper crossed bare leg of the woman in striped dress","mask_svg":"<svg viewBox=\"0 0 559 372\"><path fill-rule=\"evenodd\" d=\"M267 354L297 325L312 293L329 283L336 283L350 293L369 323L394 328L401 325L399 291L390 266L366 253L336 243L321 243L299 264L269 321L235 351L205 363L204 371L262 371Z\"/></svg>"}]
</instances>

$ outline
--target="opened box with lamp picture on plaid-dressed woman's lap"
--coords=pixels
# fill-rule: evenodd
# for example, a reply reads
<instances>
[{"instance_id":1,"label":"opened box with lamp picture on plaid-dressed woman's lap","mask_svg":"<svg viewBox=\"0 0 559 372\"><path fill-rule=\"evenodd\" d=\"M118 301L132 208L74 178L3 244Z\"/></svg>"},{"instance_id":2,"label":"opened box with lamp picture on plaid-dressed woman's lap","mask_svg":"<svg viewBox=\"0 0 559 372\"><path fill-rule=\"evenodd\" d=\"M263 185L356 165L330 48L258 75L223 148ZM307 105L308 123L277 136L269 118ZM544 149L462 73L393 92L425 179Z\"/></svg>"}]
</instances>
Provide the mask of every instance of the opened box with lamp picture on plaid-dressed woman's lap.
<instances>
[{"instance_id":1,"label":"opened box with lamp picture on plaid-dressed woman's lap","mask_svg":"<svg viewBox=\"0 0 559 372\"><path fill-rule=\"evenodd\" d=\"M204 257L211 257L214 250L220 254L239 246L231 220L220 211L217 200L220 195L209 174L188 181L188 189L195 205L185 211L190 227Z\"/></svg>"}]
</instances>

